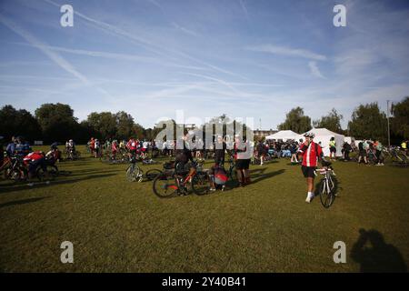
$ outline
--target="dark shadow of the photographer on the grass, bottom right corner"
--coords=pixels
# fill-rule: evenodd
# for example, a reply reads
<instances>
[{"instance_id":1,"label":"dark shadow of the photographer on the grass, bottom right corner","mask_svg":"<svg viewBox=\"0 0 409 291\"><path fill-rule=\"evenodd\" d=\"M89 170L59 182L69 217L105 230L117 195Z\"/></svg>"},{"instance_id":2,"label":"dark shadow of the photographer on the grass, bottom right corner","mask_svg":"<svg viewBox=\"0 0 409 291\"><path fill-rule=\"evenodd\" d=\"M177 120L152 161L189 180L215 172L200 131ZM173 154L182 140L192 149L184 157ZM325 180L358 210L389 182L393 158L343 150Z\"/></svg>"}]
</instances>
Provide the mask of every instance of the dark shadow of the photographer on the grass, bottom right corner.
<instances>
[{"instance_id":1,"label":"dark shadow of the photographer on the grass, bottom right corner","mask_svg":"<svg viewBox=\"0 0 409 291\"><path fill-rule=\"evenodd\" d=\"M407 272L402 254L395 246L386 244L381 233L363 228L359 233L351 250L351 257L361 265L362 273Z\"/></svg>"}]
</instances>

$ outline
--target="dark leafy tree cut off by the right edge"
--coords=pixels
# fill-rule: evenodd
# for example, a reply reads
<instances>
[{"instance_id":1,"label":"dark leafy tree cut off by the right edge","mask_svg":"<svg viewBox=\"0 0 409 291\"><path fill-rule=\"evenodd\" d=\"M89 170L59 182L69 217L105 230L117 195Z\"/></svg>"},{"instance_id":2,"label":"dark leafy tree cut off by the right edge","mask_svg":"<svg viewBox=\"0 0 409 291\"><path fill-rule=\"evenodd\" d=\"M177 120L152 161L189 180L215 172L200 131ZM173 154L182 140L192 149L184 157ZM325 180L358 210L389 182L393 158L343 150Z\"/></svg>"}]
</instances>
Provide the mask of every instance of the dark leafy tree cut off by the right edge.
<instances>
[{"instance_id":1,"label":"dark leafy tree cut off by the right edge","mask_svg":"<svg viewBox=\"0 0 409 291\"><path fill-rule=\"evenodd\" d=\"M401 138L409 138L409 96L400 103L392 105L391 128L395 135Z\"/></svg>"}]
</instances>

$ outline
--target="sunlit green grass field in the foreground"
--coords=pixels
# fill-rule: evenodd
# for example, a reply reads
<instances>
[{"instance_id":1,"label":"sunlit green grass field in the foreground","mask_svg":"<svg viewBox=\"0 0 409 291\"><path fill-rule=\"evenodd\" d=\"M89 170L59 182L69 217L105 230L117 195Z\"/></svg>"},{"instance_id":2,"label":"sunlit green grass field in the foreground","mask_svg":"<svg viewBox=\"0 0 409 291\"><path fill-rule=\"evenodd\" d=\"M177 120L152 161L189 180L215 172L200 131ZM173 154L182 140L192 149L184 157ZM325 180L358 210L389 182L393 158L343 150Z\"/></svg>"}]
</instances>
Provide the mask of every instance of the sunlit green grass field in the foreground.
<instances>
[{"instance_id":1,"label":"sunlit green grass field in the foreground","mask_svg":"<svg viewBox=\"0 0 409 291\"><path fill-rule=\"evenodd\" d=\"M86 157L59 168L72 175L34 187L0 183L2 272L359 272L409 264L409 168L335 162L339 197L329 209L319 197L304 202L300 167L284 159L252 166L251 186L170 199L156 197L151 182L127 182L126 165ZM351 256L361 228L372 235ZM74 264L60 262L66 240ZM334 264L336 241L346 244L346 264Z\"/></svg>"}]
</instances>

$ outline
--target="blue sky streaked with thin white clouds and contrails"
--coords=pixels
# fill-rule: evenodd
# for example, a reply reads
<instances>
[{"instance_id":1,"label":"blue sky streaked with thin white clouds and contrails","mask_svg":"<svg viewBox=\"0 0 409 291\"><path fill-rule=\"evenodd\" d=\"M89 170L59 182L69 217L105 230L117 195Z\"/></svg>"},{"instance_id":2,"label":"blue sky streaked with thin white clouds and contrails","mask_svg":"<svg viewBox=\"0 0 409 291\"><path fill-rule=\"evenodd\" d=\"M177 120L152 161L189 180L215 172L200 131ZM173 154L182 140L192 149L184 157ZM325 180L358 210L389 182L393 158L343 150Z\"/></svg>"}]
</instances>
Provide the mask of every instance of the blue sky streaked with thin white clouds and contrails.
<instances>
[{"instance_id":1,"label":"blue sky streaked with thin white clouds and contrails","mask_svg":"<svg viewBox=\"0 0 409 291\"><path fill-rule=\"evenodd\" d=\"M0 105L125 110L145 126L181 109L264 129L294 106L313 120L335 107L345 127L355 106L409 95L408 47L407 1L2 0Z\"/></svg>"}]
</instances>

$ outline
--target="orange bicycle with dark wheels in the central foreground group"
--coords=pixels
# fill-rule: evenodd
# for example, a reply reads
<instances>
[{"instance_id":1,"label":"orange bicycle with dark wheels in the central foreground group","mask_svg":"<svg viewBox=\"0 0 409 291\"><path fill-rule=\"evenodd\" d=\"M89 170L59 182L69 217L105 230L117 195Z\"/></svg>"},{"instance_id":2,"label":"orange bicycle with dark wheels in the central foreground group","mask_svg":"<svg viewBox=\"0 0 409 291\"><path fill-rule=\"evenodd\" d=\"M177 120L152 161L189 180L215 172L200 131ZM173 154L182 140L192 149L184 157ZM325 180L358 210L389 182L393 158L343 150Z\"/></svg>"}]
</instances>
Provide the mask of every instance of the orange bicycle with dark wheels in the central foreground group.
<instances>
[{"instance_id":1,"label":"orange bicycle with dark wheels in the central foreground group","mask_svg":"<svg viewBox=\"0 0 409 291\"><path fill-rule=\"evenodd\" d=\"M154 179L153 190L156 196L160 198L169 198L179 195L187 195L188 184L192 191L203 196L210 191L210 179L208 173L197 164L186 173L184 172L163 172Z\"/></svg>"}]
</instances>

